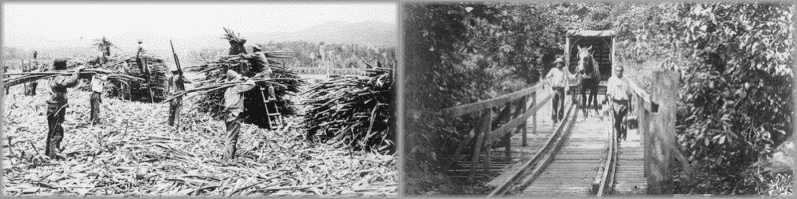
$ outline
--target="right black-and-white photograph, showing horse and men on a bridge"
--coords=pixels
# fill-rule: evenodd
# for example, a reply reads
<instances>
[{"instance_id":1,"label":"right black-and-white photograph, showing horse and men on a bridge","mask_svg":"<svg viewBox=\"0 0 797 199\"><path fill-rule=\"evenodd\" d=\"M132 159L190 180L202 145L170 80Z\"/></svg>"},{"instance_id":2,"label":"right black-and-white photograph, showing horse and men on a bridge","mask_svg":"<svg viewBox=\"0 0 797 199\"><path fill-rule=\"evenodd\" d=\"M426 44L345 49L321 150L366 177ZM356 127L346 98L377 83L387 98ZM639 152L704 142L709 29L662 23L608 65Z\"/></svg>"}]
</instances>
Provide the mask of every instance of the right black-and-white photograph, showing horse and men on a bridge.
<instances>
[{"instance_id":1,"label":"right black-and-white photograph, showing horse and men on a bridge","mask_svg":"<svg viewBox=\"0 0 797 199\"><path fill-rule=\"evenodd\" d=\"M794 196L779 3L405 3L403 195Z\"/></svg>"}]
</instances>

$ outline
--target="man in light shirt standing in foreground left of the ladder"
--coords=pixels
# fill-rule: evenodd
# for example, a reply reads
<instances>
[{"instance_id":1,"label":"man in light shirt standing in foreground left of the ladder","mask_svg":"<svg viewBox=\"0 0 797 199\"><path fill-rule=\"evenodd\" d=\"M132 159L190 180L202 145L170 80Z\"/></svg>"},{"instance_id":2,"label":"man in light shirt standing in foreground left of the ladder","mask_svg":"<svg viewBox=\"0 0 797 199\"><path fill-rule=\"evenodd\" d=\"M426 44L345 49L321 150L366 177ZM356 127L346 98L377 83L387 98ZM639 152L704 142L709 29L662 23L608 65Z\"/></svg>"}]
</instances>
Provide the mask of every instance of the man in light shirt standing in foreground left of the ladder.
<instances>
[{"instance_id":1,"label":"man in light shirt standing in foreground left of the ladder","mask_svg":"<svg viewBox=\"0 0 797 199\"><path fill-rule=\"evenodd\" d=\"M227 70L227 82L239 82L224 91L224 124L227 126L227 139L224 143L225 151L222 159L230 160L235 158L238 134L241 131L240 114L244 111L244 93L252 90L255 87L255 82L233 70Z\"/></svg>"}]
</instances>

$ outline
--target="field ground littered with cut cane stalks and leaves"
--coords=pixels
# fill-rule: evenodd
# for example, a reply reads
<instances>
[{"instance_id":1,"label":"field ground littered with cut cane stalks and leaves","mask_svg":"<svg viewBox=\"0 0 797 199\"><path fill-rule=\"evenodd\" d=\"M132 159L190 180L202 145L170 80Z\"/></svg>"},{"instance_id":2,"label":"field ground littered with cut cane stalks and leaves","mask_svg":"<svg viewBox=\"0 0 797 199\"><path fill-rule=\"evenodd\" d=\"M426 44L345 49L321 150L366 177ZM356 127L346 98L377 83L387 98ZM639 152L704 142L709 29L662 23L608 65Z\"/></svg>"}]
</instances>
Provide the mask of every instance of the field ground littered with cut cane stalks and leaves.
<instances>
[{"instance_id":1,"label":"field ground littered with cut cane stalks and leaves","mask_svg":"<svg viewBox=\"0 0 797 199\"><path fill-rule=\"evenodd\" d=\"M36 96L11 87L3 101L5 195L395 197L398 191L395 155L305 141L296 117L274 131L244 124L238 158L223 161L224 124L193 111L198 98L184 101L179 129L166 124L166 103L107 97L102 124L92 126L90 93L70 89L61 144L67 160L49 160L43 156L46 82Z\"/></svg>"}]
</instances>

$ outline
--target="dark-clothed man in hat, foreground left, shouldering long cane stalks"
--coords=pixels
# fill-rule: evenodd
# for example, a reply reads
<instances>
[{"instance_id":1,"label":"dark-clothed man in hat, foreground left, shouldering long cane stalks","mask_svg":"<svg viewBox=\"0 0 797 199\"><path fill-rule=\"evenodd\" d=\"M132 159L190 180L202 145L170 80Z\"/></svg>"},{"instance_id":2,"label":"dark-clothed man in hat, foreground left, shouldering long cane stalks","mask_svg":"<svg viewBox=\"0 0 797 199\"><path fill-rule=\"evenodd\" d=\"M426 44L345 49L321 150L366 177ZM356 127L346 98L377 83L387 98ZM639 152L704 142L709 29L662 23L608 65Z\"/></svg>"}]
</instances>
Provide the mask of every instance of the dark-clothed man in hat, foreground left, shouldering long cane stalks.
<instances>
[{"instance_id":1,"label":"dark-clothed man in hat, foreground left, shouldering long cane stalks","mask_svg":"<svg viewBox=\"0 0 797 199\"><path fill-rule=\"evenodd\" d=\"M66 70L66 59L56 59L53 62L55 70ZM63 158L57 155L59 148L61 148L61 140L64 138L64 127L61 123L64 122L64 114L68 107L67 101L67 88L75 87L78 84L78 75L83 71L83 66L80 66L72 73L71 76L55 76L50 79L50 99L47 100L47 124L49 131L47 132L47 143L45 154L50 158Z\"/></svg>"}]
</instances>

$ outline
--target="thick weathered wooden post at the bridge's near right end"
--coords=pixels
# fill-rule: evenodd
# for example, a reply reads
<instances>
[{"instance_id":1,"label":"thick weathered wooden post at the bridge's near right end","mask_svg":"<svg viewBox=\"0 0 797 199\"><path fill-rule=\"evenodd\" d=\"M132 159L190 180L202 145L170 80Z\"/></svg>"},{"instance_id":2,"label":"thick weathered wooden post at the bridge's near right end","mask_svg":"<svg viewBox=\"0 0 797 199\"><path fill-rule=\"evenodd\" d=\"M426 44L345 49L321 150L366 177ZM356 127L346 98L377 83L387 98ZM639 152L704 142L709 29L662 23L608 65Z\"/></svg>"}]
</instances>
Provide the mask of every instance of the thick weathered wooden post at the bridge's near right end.
<instances>
[{"instance_id":1,"label":"thick weathered wooden post at the bridge's near right end","mask_svg":"<svg viewBox=\"0 0 797 199\"><path fill-rule=\"evenodd\" d=\"M646 148L651 160L647 175L649 194L672 194L671 147L675 142L676 101L678 96L678 74L672 71L656 71L652 74L655 84L651 85L651 98L659 103L658 112L650 114L643 111L644 119L650 121L644 126L649 131L645 139L651 144Z\"/></svg>"}]
</instances>

